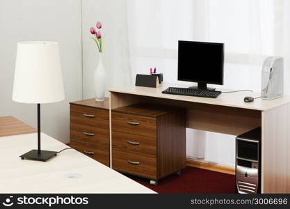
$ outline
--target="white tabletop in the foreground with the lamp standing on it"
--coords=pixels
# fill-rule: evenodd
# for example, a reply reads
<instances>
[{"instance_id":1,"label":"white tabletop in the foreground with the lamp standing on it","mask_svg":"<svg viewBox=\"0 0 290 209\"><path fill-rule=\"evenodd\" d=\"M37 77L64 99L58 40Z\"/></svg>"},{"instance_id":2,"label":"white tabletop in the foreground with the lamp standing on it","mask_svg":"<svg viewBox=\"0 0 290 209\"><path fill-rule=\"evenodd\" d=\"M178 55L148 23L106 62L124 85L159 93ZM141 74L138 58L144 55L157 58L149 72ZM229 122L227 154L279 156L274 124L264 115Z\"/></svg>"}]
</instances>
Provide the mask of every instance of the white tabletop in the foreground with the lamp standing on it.
<instances>
[{"instance_id":1,"label":"white tabletop in the foreground with the lamp standing on it","mask_svg":"<svg viewBox=\"0 0 290 209\"><path fill-rule=\"evenodd\" d=\"M65 144L42 133L43 150ZM47 162L21 160L37 146L37 134L0 137L0 193L155 193L76 150L64 150ZM81 178L68 178L77 173Z\"/></svg>"}]
</instances>

